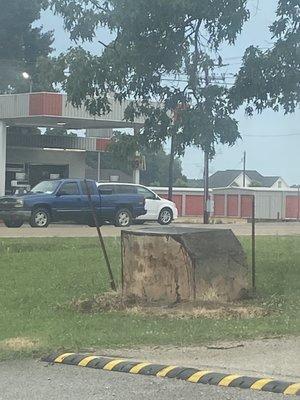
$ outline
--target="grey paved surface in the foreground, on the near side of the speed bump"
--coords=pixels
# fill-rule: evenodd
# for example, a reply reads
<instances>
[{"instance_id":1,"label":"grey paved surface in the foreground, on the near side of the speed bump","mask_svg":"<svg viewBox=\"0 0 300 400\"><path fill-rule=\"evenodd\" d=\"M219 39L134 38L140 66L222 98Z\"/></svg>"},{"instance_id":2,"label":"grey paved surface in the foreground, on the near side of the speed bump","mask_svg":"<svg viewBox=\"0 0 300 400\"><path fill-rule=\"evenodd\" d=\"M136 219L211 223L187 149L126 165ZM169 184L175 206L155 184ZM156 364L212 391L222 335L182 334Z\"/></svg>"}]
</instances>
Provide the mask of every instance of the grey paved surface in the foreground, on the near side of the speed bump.
<instances>
[{"instance_id":1,"label":"grey paved surface in the foreground, on the near side of the speed bump","mask_svg":"<svg viewBox=\"0 0 300 400\"><path fill-rule=\"evenodd\" d=\"M276 400L280 394L133 376L38 361L0 363L1 400Z\"/></svg>"}]
</instances>

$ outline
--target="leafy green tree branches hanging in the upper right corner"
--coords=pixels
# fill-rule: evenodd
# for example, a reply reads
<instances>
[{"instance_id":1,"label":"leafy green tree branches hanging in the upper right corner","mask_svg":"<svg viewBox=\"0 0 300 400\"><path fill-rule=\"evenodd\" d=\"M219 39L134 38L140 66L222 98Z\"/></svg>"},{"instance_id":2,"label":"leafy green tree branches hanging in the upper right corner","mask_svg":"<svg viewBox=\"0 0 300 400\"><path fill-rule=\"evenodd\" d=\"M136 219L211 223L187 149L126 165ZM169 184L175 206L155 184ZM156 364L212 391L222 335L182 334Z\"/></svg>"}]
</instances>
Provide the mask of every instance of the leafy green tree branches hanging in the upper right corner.
<instances>
[{"instance_id":1,"label":"leafy green tree branches hanging in the upper right corner","mask_svg":"<svg viewBox=\"0 0 300 400\"><path fill-rule=\"evenodd\" d=\"M252 115L265 108L285 113L300 102L300 3L279 0L277 19L270 26L275 43L266 51L249 47L231 96L236 107L244 102Z\"/></svg>"}]
</instances>

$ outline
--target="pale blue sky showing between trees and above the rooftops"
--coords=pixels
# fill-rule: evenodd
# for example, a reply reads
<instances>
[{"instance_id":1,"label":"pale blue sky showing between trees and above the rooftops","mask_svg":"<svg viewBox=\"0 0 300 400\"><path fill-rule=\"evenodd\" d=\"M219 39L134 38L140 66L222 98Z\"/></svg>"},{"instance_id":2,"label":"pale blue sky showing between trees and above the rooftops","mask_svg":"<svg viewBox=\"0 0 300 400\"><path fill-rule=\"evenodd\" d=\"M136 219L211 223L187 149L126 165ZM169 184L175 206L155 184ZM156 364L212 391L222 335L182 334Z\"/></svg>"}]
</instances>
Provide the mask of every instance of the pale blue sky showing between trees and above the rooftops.
<instances>
[{"instance_id":1,"label":"pale blue sky showing between trees and above the rooftops","mask_svg":"<svg viewBox=\"0 0 300 400\"><path fill-rule=\"evenodd\" d=\"M254 44L263 48L270 47L268 26L275 20L276 4L276 0L249 0L251 19L244 25L235 45L226 46L221 51L225 63L230 64L224 72L237 71L248 46ZM42 14L40 23L45 30L54 30L55 53L66 51L72 45L60 17L46 11ZM103 42L109 42L109 35L105 30L100 30L99 35ZM94 44L85 45L85 48L91 52L101 50ZM300 109L290 115L265 110L250 118L241 108L235 118L239 122L242 139L230 148L217 146L216 157L210 163L210 173L241 169L243 152L246 151L247 169L258 170L266 176L281 176L290 185L300 184ZM202 178L204 157L201 150L187 149L182 163L183 172L188 178Z\"/></svg>"}]
</instances>

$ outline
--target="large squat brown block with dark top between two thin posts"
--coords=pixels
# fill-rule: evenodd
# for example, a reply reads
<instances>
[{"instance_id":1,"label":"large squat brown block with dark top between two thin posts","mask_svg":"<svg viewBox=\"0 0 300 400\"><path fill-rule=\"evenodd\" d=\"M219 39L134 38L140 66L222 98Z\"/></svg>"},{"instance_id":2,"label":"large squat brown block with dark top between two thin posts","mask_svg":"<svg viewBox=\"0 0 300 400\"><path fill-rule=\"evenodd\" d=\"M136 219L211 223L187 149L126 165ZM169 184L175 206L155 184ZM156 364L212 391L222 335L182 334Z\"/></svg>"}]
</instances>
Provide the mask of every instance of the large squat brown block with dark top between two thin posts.
<instances>
[{"instance_id":1,"label":"large squat brown block with dark top between two thin posts","mask_svg":"<svg viewBox=\"0 0 300 400\"><path fill-rule=\"evenodd\" d=\"M121 237L124 299L234 301L250 289L246 255L230 229L149 227Z\"/></svg>"}]
</instances>

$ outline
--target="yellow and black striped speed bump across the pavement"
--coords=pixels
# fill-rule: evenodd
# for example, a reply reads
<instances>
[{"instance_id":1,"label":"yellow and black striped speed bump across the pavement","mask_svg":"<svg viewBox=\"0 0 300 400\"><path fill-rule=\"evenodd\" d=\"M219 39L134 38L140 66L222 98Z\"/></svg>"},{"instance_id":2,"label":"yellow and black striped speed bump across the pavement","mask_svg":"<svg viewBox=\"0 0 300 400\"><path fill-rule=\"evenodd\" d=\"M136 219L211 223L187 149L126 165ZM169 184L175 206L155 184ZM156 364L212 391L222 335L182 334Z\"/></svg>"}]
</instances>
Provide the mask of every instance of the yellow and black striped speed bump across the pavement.
<instances>
[{"instance_id":1,"label":"yellow and black striped speed bump across the pavement","mask_svg":"<svg viewBox=\"0 0 300 400\"><path fill-rule=\"evenodd\" d=\"M129 374L157 376L161 378L175 378L192 383L262 390L264 392L283 393L287 395L300 395L300 382L290 383L271 378L253 378L236 374L228 375L213 371L202 371L195 368L151 364L120 358L108 358L77 353L56 353L43 358L42 361L77 365L80 367L102 369L105 371L125 372Z\"/></svg>"}]
</instances>

